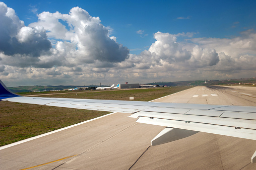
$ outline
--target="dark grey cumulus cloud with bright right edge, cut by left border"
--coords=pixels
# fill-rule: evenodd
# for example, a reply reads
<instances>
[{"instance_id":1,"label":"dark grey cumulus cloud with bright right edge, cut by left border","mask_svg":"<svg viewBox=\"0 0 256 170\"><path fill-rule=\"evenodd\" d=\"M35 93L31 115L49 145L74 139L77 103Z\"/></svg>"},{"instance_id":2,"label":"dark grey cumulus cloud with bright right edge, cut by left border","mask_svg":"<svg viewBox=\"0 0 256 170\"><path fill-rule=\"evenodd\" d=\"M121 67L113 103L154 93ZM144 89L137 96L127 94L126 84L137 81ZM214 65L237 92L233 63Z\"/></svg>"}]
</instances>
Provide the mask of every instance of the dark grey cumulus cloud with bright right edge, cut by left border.
<instances>
[{"instance_id":1,"label":"dark grey cumulus cloud with bright right edge, cut by left border","mask_svg":"<svg viewBox=\"0 0 256 170\"><path fill-rule=\"evenodd\" d=\"M43 27L26 27L15 11L0 2L0 52L38 57L51 48Z\"/></svg>"}]
</instances>

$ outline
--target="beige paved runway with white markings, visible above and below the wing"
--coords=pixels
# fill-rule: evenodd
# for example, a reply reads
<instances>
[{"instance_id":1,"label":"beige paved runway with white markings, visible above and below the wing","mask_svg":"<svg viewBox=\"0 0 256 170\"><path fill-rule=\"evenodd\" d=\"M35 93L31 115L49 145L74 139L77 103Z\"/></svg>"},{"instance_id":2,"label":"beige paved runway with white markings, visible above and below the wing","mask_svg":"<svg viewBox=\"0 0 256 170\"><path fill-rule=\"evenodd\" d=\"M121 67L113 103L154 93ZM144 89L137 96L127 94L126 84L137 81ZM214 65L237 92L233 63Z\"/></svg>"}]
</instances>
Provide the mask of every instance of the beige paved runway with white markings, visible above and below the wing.
<instances>
[{"instance_id":1,"label":"beige paved runway with white markings, visible above and below the wing","mask_svg":"<svg viewBox=\"0 0 256 170\"><path fill-rule=\"evenodd\" d=\"M153 102L256 106L256 88L195 87ZM1 169L256 169L256 141L197 133L150 146L164 127L114 113L0 150Z\"/></svg>"}]
</instances>

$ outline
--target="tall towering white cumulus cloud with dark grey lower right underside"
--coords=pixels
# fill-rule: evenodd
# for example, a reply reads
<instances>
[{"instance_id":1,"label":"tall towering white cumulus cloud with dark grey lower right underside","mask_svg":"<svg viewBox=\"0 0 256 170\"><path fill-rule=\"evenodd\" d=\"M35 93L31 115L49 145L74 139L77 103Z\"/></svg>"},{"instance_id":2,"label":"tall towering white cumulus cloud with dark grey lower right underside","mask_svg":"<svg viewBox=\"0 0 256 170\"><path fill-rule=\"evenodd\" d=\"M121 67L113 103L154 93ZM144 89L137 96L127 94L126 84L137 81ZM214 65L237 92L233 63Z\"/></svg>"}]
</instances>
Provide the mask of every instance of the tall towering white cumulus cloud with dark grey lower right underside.
<instances>
[{"instance_id":1,"label":"tall towering white cumulus cloud with dark grey lower right underside","mask_svg":"<svg viewBox=\"0 0 256 170\"><path fill-rule=\"evenodd\" d=\"M29 26L43 26L49 38L75 44L77 49L73 50L81 62L121 62L128 57L129 49L118 44L115 37L109 37L109 30L101 24L100 19L79 7L71 9L69 14L43 12L38 19L37 23Z\"/></svg>"}]
</instances>

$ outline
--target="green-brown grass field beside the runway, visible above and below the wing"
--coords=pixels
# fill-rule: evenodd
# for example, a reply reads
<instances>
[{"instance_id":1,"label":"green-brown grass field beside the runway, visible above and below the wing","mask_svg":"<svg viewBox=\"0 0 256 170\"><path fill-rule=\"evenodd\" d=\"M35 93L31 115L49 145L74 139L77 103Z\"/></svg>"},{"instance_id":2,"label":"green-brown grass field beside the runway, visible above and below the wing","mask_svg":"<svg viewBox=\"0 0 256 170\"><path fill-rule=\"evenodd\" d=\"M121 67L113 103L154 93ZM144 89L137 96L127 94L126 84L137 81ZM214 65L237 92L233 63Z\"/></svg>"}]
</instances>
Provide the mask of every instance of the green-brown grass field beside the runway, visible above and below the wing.
<instances>
[{"instance_id":1,"label":"green-brown grass field beside the runway, visible above and below the wing","mask_svg":"<svg viewBox=\"0 0 256 170\"><path fill-rule=\"evenodd\" d=\"M190 87L78 91L40 97L150 101ZM87 95L89 94L89 95ZM110 112L0 102L0 146L90 120Z\"/></svg>"}]
</instances>

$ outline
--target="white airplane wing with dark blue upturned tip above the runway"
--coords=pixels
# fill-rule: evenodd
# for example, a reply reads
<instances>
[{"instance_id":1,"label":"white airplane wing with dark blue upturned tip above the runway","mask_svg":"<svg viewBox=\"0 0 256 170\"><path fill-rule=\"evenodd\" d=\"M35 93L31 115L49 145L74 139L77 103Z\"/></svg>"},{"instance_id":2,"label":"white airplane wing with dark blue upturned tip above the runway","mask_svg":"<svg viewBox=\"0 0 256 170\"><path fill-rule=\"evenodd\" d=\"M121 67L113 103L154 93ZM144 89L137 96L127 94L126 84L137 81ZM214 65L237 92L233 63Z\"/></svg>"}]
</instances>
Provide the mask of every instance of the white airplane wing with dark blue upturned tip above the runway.
<instances>
[{"instance_id":1,"label":"white airplane wing with dark blue upturned tip above the runway","mask_svg":"<svg viewBox=\"0 0 256 170\"><path fill-rule=\"evenodd\" d=\"M130 117L137 118L137 122L166 127L151 141L152 145L181 139L197 132L256 140L256 107L23 97L9 91L1 80L0 83L2 101L131 113ZM256 151L251 162L256 162Z\"/></svg>"}]
</instances>

